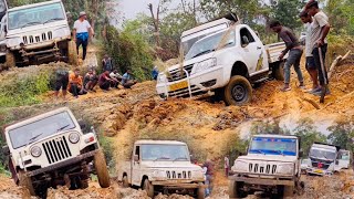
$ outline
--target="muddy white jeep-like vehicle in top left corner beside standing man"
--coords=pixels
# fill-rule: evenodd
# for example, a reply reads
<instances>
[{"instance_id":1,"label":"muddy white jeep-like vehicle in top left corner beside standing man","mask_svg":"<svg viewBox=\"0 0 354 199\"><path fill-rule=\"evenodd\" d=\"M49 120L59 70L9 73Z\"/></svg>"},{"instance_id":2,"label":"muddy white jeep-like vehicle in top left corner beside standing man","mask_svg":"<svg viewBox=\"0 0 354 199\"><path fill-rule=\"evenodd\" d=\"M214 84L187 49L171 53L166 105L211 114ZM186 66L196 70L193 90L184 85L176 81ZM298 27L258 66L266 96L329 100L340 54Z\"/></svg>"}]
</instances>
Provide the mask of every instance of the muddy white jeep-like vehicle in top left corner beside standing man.
<instances>
[{"instance_id":1,"label":"muddy white jeep-like vehicle in top left corner beside standing man","mask_svg":"<svg viewBox=\"0 0 354 199\"><path fill-rule=\"evenodd\" d=\"M11 8L1 22L8 67L66 61L75 64L76 48L61 0Z\"/></svg>"}]
</instances>

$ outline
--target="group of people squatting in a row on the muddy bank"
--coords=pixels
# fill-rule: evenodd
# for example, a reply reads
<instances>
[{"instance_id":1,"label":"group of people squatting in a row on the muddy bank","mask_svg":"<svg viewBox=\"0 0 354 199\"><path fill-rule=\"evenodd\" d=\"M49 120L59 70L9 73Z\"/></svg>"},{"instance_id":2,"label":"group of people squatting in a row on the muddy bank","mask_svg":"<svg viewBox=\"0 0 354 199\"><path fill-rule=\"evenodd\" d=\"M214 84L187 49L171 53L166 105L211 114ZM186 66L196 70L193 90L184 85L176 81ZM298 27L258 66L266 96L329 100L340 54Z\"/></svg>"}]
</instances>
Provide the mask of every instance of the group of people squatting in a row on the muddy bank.
<instances>
[{"instance_id":1,"label":"group of people squatting in a row on the muddy bank","mask_svg":"<svg viewBox=\"0 0 354 199\"><path fill-rule=\"evenodd\" d=\"M111 69L112 70L112 69ZM131 70L122 76L117 70L110 71L106 65L103 65L103 73L97 75L96 71L91 67L84 76L80 75L80 70L67 71L59 69L56 71L55 82L55 97L58 98L59 91L62 88L63 97L65 100L66 91L73 94L75 98L79 95L85 95L87 92L96 92L95 87L98 85L104 92L111 88L118 88L119 84L124 88L131 88L137 81L133 78Z\"/></svg>"}]
</instances>

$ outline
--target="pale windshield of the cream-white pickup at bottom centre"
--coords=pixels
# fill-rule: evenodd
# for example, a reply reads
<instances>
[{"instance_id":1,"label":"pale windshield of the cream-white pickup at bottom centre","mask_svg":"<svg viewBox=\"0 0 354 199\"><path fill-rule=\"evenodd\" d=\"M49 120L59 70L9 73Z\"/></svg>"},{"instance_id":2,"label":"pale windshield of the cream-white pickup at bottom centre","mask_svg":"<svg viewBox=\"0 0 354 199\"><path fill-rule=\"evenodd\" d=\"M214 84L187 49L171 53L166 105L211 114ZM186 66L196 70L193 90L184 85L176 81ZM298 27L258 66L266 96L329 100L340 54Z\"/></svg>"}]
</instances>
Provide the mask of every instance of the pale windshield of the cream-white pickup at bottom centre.
<instances>
[{"instance_id":1,"label":"pale windshield of the cream-white pickup at bottom centre","mask_svg":"<svg viewBox=\"0 0 354 199\"><path fill-rule=\"evenodd\" d=\"M189 161L186 145L143 145L143 160Z\"/></svg>"}]
</instances>

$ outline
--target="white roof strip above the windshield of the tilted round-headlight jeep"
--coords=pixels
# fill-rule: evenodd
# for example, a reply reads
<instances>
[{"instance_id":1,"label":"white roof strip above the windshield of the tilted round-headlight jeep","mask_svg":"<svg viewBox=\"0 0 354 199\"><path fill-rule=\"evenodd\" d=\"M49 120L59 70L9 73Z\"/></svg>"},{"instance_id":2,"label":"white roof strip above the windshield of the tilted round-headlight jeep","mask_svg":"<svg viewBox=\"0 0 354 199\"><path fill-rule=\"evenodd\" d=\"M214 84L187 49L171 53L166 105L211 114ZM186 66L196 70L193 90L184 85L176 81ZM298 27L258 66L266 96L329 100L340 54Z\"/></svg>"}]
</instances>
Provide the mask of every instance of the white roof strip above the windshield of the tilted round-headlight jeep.
<instances>
[{"instance_id":1,"label":"white roof strip above the windshield of the tilted round-headlight jeep","mask_svg":"<svg viewBox=\"0 0 354 199\"><path fill-rule=\"evenodd\" d=\"M30 116L30 117L27 117L24 119L17 121L17 122L13 122L11 124L6 125L3 127L3 134L6 132L8 132L8 130L13 129L13 128L18 128L20 126L23 126L24 124L33 123L35 121L39 121L39 119L42 119L42 118L45 118L45 117L49 117L51 115L55 115L55 114L59 114L59 113L62 113L62 112L72 113L69 107L61 107L61 108L56 108L56 109L53 109L53 111L50 111L50 112L45 112L45 113L41 113L41 114L34 115L34 116Z\"/></svg>"}]
</instances>

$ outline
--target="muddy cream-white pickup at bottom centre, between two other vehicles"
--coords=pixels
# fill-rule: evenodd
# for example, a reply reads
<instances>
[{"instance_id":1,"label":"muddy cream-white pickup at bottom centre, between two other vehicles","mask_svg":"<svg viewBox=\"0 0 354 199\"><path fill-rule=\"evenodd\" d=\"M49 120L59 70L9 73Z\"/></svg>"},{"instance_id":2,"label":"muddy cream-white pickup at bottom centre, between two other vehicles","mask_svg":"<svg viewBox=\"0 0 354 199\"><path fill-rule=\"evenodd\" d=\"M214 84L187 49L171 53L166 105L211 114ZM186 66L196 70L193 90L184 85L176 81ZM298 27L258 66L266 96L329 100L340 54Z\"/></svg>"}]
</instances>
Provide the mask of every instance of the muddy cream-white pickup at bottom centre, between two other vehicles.
<instances>
[{"instance_id":1,"label":"muddy cream-white pickup at bottom centre, between two other vehicles","mask_svg":"<svg viewBox=\"0 0 354 199\"><path fill-rule=\"evenodd\" d=\"M205 176L201 167L190 163L185 143L173 140L137 140L132 159L117 166L124 187L135 186L155 192L191 195L205 198Z\"/></svg>"}]
</instances>

